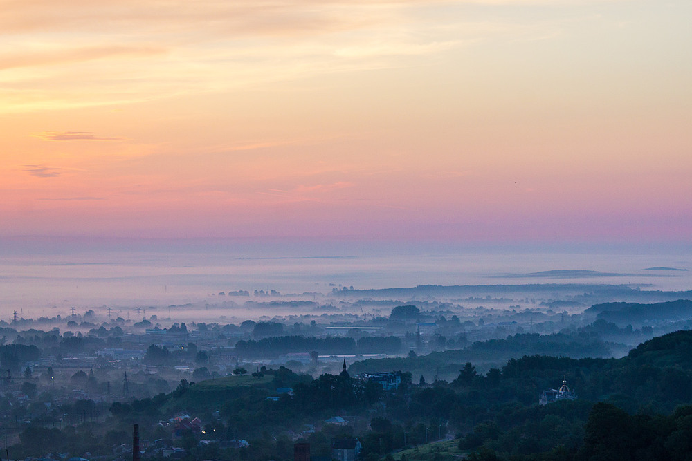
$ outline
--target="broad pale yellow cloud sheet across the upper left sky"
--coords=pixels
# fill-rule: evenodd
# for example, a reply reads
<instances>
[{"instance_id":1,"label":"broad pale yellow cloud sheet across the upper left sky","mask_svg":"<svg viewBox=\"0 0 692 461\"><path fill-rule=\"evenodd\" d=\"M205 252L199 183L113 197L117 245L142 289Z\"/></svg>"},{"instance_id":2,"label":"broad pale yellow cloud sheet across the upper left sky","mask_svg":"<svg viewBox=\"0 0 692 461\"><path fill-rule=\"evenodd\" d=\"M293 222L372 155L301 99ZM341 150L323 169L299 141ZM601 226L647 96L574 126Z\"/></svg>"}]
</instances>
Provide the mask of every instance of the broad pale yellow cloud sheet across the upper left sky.
<instances>
[{"instance_id":1,"label":"broad pale yellow cloud sheet across the upper left sky","mask_svg":"<svg viewBox=\"0 0 692 461\"><path fill-rule=\"evenodd\" d=\"M0 84L8 89L0 112L128 104L306 75L420 66L417 59L526 28L458 14L462 6L497 1L0 3L6 13L0 50L12 50L0 53Z\"/></svg>"}]
</instances>

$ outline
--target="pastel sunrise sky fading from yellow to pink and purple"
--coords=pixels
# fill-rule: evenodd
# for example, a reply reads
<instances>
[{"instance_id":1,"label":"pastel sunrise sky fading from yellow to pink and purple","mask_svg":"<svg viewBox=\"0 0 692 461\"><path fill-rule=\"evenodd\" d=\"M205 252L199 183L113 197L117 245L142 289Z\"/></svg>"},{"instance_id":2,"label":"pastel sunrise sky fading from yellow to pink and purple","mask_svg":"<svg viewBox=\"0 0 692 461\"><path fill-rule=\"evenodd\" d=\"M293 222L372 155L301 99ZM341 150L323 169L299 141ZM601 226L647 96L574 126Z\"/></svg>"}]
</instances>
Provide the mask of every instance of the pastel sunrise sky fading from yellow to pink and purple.
<instances>
[{"instance_id":1,"label":"pastel sunrise sky fading from yellow to pink and purple","mask_svg":"<svg viewBox=\"0 0 692 461\"><path fill-rule=\"evenodd\" d=\"M0 237L689 241L689 0L0 0Z\"/></svg>"}]
</instances>

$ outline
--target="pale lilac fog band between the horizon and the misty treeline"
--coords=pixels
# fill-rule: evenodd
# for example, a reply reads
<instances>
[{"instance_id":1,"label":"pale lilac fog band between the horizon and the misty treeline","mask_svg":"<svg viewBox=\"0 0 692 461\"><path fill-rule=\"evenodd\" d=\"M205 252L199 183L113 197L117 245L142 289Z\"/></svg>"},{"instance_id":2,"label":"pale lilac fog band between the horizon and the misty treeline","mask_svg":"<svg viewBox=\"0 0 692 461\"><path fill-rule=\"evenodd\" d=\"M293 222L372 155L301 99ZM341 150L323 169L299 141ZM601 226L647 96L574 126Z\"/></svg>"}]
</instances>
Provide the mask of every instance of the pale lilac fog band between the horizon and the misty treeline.
<instances>
[{"instance_id":1,"label":"pale lilac fog band between the horizon and the misty treeline","mask_svg":"<svg viewBox=\"0 0 692 461\"><path fill-rule=\"evenodd\" d=\"M81 312L106 306L123 318L139 317L141 313L135 314L134 308L146 308L147 314L162 318L169 317L172 310L171 317L178 321L321 314L314 305L288 305L285 301L314 301L320 310L342 312L339 302L347 301L347 293L334 294L334 290L344 287L577 283L632 285L641 290L692 288L692 271L688 270L692 269L692 251L680 245L480 247L15 239L1 241L0 250L5 255L0 259L2 319L10 319L15 310L23 317L37 318L64 316L72 307ZM250 296L229 296L238 291ZM449 301L438 298L435 300ZM518 298L513 294L506 302L484 304L509 308ZM271 301L282 304L271 308ZM457 304L480 305L463 300ZM187 307L180 307L183 305ZM361 307L354 308L355 313L360 314ZM376 306L368 310L378 313ZM383 313L388 310L390 307L383 306Z\"/></svg>"}]
</instances>

